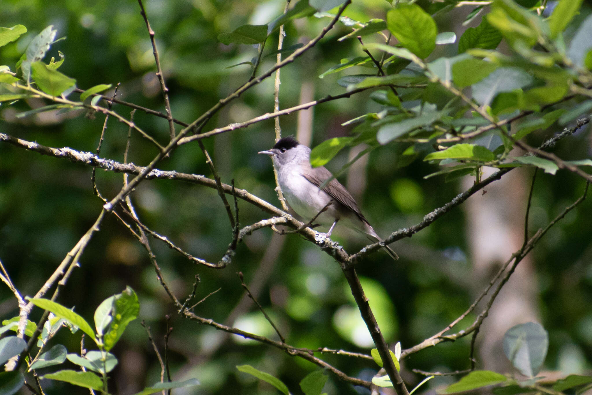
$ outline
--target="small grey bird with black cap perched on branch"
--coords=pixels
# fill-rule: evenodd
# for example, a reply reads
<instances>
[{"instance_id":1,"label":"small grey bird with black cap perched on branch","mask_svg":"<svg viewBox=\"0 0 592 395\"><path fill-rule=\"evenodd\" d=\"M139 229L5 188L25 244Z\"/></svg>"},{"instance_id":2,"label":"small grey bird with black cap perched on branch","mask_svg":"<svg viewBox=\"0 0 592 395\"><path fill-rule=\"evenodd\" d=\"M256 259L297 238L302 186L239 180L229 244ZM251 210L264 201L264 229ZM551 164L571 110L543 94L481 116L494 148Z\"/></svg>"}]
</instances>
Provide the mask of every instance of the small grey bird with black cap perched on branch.
<instances>
[{"instance_id":1,"label":"small grey bird with black cap perched on branch","mask_svg":"<svg viewBox=\"0 0 592 395\"><path fill-rule=\"evenodd\" d=\"M310 148L288 136L275 143L272 149L259 153L271 156L278 171L279 186L292 210L303 219L311 220L317 216L316 222L330 225L327 237L333 232L337 221L341 221L373 242L381 240L352 195L337 179L332 179L320 188L332 174L323 166L313 168L310 165ZM384 248L393 259L399 258L389 246Z\"/></svg>"}]
</instances>

